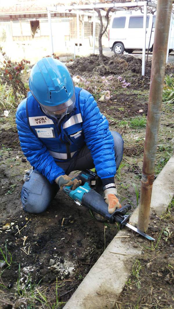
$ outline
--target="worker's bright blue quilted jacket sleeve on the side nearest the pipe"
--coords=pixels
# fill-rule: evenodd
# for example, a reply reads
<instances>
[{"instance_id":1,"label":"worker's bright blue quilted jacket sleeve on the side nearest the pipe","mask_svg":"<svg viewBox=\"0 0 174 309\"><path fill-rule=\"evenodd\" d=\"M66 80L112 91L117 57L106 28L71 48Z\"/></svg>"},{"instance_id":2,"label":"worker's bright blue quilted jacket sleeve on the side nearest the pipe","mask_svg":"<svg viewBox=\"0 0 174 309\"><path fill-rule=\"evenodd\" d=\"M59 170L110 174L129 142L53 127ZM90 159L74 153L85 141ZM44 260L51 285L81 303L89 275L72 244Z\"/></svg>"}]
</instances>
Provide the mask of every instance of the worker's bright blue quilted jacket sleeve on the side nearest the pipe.
<instances>
[{"instance_id":1,"label":"worker's bright blue quilted jacket sleeve on the side nearest the pipe","mask_svg":"<svg viewBox=\"0 0 174 309\"><path fill-rule=\"evenodd\" d=\"M100 113L92 95L81 100L81 114L85 142L91 151L98 176L101 179L113 177L116 174L113 137L108 121Z\"/></svg>"}]
</instances>

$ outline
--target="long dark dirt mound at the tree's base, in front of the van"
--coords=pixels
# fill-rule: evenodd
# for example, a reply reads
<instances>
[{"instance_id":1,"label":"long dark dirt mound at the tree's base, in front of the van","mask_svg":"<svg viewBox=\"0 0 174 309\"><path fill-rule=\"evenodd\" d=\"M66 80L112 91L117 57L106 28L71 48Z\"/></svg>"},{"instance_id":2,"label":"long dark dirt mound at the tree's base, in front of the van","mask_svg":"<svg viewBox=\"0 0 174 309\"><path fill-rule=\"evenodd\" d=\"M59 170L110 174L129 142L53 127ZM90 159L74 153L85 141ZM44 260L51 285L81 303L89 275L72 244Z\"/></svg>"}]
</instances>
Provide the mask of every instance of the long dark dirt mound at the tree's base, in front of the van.
<instances>
[{"instance_id":1,"label":"long dark dirt mound at the tree's base, in front of the van","mask_svg":"<svg viewBox=\"0 0 174 309\"><path fill-rule=\"evenodd\" d=\"M86 72L97 72L103 75L122 74L131 71L141 74L142 60L133 56L113 55L103 57L104 64L99 61L99 55L92 54L87 57L76 58L72 64L68 65L71 74L84 75ZM151 74L151 61L147 62L146 76Z\"/></svg>"}]
</instances>

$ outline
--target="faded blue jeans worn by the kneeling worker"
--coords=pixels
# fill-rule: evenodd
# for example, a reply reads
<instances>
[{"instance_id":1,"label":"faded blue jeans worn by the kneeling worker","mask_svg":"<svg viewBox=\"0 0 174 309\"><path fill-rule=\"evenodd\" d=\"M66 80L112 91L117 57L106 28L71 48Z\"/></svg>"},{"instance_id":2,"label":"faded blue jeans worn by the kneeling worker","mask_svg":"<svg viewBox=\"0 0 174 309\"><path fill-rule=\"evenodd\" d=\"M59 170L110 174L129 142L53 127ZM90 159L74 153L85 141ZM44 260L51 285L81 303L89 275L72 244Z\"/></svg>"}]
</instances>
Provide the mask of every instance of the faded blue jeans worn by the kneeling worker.
<instances>
[{"instance_id":1,"label":"faded blue jeans worn by the kneeling worker","mask_svg":"<svg viewBox=\"0 0 174 309\"><path fill-rule=\"evenodd\" d=\"M111 133L114 139L115 160L118 169L123 157L124 141L119 133L115 131L111 131ZM86 145L69 162L58 162L57 164L63 168L66 175L72 171L94 168L91 152ZM23 209L32 214L39 214L47 209L59 187L56 183L50 184L45 176L32 168L27 175L21 191Z\"/></svg>"}]
</instances>

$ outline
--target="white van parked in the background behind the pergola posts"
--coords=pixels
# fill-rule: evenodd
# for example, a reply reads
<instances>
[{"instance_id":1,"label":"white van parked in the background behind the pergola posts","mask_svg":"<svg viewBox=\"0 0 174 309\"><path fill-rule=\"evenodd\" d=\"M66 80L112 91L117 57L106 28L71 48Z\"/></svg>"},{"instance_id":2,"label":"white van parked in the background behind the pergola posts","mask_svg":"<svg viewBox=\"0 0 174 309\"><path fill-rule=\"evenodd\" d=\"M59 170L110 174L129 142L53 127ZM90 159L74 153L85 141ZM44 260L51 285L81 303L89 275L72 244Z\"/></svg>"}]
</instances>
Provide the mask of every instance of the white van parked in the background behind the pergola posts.
<instances>
[{"instance_id":1,"label":"white van parked in the background behind the pergola posts","mask_svg":"<svg viewBox=\"0 0 174 309\"><path fill-rule=\"evenodd\" d=\"M172 14L173 15L173 14ZM148 14L146 20L146 49L149 46L153 50L154 28L156 15ZM153 23L153 28L152 28ZM152 34L151 34L152 28ZM134 49L142 49L144 41L143 14L141 11L117 11L111 16L109 23L109 47L115 54L122 54L124 50L132 53ZM169 53L174 49L174 20L172 18L172 29L170 34Z\"/></svg>"}]
</instances>

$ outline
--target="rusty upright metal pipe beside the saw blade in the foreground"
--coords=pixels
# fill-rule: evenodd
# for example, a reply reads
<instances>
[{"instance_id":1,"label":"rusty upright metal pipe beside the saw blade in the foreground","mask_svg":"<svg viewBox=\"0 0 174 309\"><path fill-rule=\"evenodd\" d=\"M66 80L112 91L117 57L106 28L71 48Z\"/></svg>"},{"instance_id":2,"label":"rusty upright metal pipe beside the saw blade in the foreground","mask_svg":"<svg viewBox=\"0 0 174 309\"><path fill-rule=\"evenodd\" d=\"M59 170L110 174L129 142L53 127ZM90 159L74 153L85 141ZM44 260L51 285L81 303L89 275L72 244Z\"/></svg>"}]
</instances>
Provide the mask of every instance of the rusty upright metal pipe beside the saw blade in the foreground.
<instances>
[{"instance_id":1,"label":"rusty upright metal pipe beside the saw blade in the foreground","mask_svg":"<svg viewBox=\"0 0 174 309\"><path fill-rule=\"evenodd\" d=\"M146 231L151 205L172 0L158 0L142 167L138 229Z\"/></svg>"}]
</instances>

